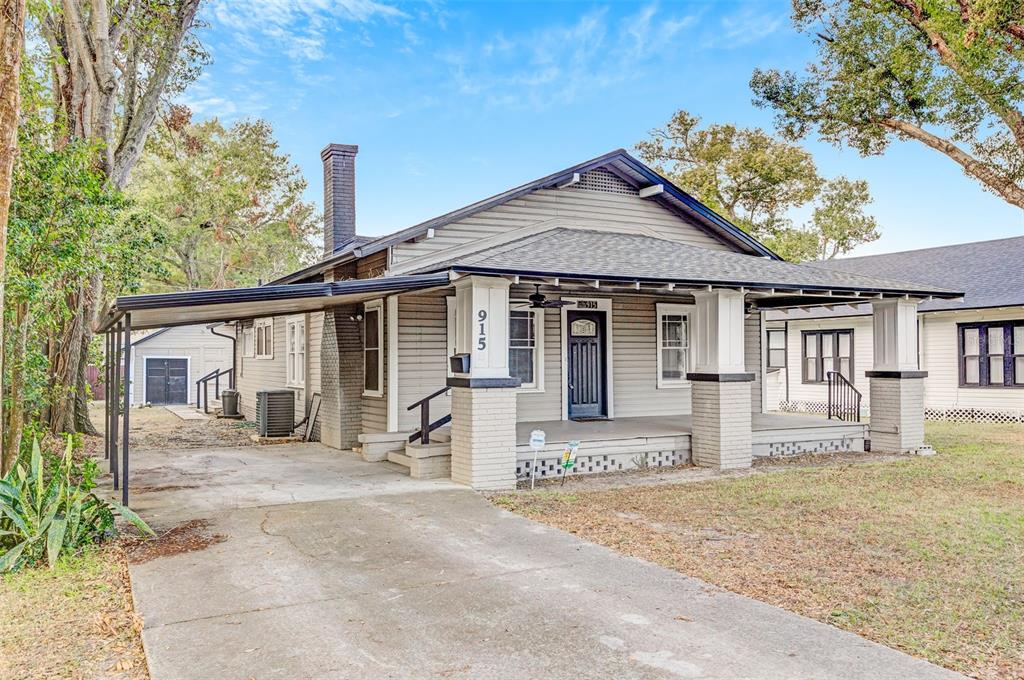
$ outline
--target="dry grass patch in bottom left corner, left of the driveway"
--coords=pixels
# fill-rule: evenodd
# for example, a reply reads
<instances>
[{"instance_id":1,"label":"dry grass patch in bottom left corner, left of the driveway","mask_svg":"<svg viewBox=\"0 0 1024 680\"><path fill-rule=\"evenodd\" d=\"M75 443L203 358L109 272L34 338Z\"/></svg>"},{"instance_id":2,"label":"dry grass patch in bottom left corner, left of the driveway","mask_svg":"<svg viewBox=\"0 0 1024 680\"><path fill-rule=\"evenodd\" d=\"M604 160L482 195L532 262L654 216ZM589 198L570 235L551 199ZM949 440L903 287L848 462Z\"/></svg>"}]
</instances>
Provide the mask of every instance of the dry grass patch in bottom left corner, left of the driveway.
<instances>
[{"instance_id":1,"label":"dry grass patch in bottom left corner, left of the driveway","mask_svg":"<svg viewBox=\"0 0 1024 680\"><path fill-rule=\"evenodd\" d=\"M117 547L0 580L0 678L147 680Z\"/></svg>"}]
</instances>

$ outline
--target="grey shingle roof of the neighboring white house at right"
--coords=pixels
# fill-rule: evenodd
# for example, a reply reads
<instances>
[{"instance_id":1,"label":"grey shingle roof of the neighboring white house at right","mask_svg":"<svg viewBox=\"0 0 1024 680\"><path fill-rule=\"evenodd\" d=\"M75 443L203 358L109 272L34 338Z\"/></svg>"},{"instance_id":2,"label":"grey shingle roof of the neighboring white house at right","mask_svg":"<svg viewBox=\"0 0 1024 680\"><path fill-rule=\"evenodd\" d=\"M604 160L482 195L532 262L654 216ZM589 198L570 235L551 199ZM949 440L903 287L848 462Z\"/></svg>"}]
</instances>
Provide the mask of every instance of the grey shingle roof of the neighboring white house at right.
<instances>
[{"instance_id":1,"label":"grey shingle roof of the neighboring white house at right","mask_svg":"<svg viewBox=\"0 0 1024 680\"><path fill-rule=\"evenodd\" d=\"M919 285L964 291L963 300L929 300L921 303L921 311L1024 305L1024 237L848 257L816 262L814 266L831 271L898 278ZM863 313L864 309L852 307L837 308L835 312L804 309L790 312L787 317L818 318Z\"/></svg>"}]
</instances>

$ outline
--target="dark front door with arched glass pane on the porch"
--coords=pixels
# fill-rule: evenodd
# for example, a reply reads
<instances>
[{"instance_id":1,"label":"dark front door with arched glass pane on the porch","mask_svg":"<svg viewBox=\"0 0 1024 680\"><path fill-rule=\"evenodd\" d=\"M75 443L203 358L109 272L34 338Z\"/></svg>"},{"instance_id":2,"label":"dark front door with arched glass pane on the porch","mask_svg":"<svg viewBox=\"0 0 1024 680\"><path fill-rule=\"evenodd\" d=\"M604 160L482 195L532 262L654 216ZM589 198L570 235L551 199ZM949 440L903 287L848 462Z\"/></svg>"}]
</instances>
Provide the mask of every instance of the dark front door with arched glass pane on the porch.
<instances>
[{"instance_id":1,"label":"dark front door with arched glass pane on the porch","mask_svg":"<svg viewBox=\"0 0 1024 680\"><path fill-rule=\"evenodd\" d=\"M569 418L601 418L604 405L604 313L566 311Z\"/></svg>"}]
</instances>

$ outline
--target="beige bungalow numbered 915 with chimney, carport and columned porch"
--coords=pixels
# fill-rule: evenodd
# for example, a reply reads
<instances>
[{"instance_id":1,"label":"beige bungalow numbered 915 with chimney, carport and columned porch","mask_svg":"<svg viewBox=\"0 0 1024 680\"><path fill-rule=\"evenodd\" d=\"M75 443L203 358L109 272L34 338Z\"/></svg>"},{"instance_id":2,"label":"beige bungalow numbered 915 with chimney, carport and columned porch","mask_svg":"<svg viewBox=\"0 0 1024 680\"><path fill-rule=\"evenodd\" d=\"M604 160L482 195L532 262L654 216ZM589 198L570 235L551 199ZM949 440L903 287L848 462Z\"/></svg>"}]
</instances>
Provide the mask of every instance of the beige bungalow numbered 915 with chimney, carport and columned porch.
<instances>
[{"instance_id":1,"label":"beige bungalow numbered 915 with chimney, carport and columned porch","mask_svg":"<svg viewBox=\"0 0 1024 680\"><path fill-rule=\"evenodd\" d=\"M918 305L953 288L784 262L625 151L359 237L356 153L322 153L318 262L259 288L118 298L102 330L233 322L248 418L260 389L292 390L298 414L318 394L325 444L475 488L556 474L569 441L577 472L925 445ZM882 329L867 376L889 408L869 431L765 413L762 312L845 302Z\"/></svg>"}]
</instances>

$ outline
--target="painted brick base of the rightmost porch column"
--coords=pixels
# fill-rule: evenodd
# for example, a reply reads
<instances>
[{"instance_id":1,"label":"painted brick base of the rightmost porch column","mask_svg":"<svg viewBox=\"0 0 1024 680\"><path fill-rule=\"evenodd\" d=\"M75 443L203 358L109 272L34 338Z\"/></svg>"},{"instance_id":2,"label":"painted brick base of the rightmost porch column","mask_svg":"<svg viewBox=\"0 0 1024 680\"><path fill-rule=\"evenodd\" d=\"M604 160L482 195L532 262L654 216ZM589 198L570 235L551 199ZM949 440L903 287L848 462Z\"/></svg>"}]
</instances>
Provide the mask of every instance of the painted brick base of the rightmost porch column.
<instances>
[{"instance_id":1,"label":"painted brick base of the rightmost porch column","mask_svg":"<svg viewBox=\"0 0 1024 680\"><path fill-rule=\"evenodd\" d=\"M925 381L923 372L911 377L870 375L871 451L909 453L925 449Z\"/></svg>"}]
</instances>

